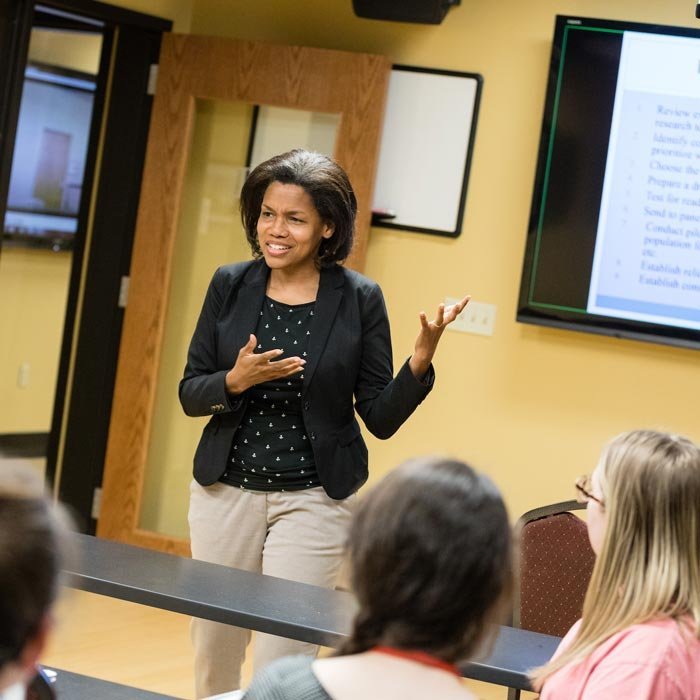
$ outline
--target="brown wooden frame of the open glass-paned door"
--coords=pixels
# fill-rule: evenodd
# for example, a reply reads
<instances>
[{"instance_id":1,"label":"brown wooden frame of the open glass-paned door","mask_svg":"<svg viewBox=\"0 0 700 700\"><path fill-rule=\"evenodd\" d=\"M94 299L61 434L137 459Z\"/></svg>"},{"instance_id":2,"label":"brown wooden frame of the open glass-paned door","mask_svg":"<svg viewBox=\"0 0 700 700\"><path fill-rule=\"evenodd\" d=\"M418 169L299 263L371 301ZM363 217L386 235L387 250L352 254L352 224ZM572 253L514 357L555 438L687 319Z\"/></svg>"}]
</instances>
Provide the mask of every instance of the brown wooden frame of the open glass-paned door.
<instances>
[{"instance_id":1,"label":"brown wooden frame of the open glass-paned door","mask_svg":"<svg viewBox=\"0 0 700 700\"><path fill-rule=\"evenodd\" d=\"M187 540L142 530L138 519L195 100L340 114L334 155L353 182L359 209L348 265L361 269L390 69L384 56L164 35L117 366L99 536L189 552Z\"/></svg>"}]
</instances>

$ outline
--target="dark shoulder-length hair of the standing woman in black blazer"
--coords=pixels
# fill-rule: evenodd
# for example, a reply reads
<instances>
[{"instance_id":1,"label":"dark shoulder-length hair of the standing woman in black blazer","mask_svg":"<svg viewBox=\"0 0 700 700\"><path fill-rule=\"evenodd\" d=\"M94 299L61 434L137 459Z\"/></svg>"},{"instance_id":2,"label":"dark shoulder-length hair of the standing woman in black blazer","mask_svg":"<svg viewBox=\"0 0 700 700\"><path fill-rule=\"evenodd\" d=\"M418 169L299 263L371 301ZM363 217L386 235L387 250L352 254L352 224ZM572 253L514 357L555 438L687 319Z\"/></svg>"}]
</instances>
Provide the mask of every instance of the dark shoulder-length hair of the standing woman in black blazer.
<instances>
[{"instance_id":1,"label":"dark shoulder-length hair of the standing woman in black blazer","mask_svg":"<svg viewBox=\"0 0 700 700\"><path fill-rule=\"evenodd\" d=\"M357 199L345 171L321 153L297 148L260 163L248 175L241 191L241 219L246 238L256 258L262 256L258 243L258 218L267 188L273 183L298 185L310 197L321 221L333 227L318 250L318 267L332 267L352 250Z\"/></svg>"}]
</instances>

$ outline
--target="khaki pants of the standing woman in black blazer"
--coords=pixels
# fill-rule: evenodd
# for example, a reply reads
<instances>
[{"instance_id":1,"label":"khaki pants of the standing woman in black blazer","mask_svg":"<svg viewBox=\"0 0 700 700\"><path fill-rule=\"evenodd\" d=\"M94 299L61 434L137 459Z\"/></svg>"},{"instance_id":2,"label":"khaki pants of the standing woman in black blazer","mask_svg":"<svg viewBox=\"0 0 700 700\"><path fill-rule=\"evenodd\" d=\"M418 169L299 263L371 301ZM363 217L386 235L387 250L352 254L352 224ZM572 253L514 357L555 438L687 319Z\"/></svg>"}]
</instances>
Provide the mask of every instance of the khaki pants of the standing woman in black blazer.
<instances>
[{"instance_id":1,"label":"khaki pants of the standing woman in black blazer","mask_svg":"<svg viewBox=\"0 0 700 700\"><path fill-rule=\"evenodd\" d=\"M352 504L323 488L260 493L215 483L190 486L192 557L235 569L333 588L342 562ZM293 605L294 601L287 601ZM235 690L250 630L192 620L198 698ZM318 647L256 634L254 667L288 654L315 656Z\"/></svg>"}]
</instances>

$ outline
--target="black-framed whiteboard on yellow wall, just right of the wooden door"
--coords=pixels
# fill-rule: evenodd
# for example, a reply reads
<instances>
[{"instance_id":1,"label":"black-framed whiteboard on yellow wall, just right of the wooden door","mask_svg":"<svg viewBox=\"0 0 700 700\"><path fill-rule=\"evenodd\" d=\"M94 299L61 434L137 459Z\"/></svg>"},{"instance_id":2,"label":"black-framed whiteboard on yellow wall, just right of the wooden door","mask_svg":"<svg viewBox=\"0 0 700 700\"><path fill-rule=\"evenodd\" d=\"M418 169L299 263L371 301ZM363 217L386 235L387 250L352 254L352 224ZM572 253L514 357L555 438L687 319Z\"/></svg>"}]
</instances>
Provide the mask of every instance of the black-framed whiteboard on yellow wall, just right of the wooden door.
<instances>
[{"instance_id":1,"label":"black-framed whiteboard on yellow wall, just right of the wooden door","mask_svg":"<svg viewBox=\"0 0 700 700\"><path fill-rule=\"evenodd\" d=\"M392 68L373 226L461 233L482 84L478 73Z\"/></svg>"}]
</instances>

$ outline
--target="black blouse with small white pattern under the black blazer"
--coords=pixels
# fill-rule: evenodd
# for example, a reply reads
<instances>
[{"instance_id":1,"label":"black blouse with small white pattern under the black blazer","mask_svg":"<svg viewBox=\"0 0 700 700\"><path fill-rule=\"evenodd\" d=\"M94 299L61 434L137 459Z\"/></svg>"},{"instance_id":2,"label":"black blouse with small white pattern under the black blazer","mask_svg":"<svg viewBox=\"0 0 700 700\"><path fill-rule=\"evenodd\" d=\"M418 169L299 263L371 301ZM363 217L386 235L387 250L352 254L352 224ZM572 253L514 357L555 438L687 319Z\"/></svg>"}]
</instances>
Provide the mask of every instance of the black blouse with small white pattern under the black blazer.
<instances>
[{"instance_id":1,"label":"black blouse with small white pattern under the black blazer","mask_svg":"<svg viewBox=\"0 0 700 700\"><path fill-rule=\"evenodd\" d=\"M284 350L279 359L306 357L315 302L289 305L265 297L257 352ZM231 445L221 481L250 491L300 491L320 486L302 421L303 370L248 390L248 407Z\"/></svg>"}]
</instances>

